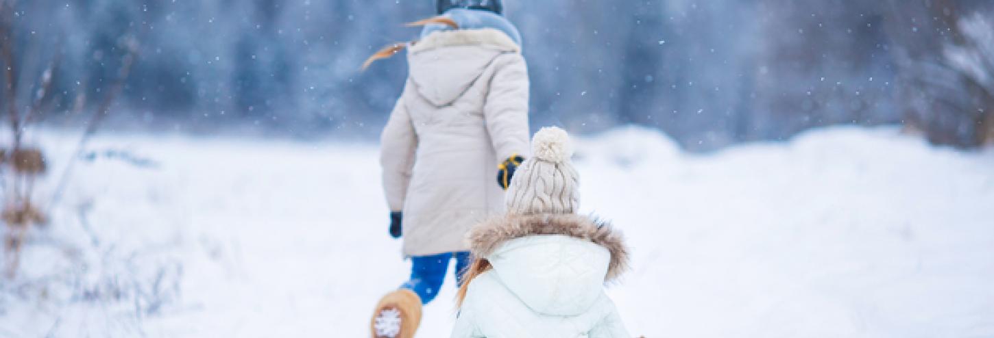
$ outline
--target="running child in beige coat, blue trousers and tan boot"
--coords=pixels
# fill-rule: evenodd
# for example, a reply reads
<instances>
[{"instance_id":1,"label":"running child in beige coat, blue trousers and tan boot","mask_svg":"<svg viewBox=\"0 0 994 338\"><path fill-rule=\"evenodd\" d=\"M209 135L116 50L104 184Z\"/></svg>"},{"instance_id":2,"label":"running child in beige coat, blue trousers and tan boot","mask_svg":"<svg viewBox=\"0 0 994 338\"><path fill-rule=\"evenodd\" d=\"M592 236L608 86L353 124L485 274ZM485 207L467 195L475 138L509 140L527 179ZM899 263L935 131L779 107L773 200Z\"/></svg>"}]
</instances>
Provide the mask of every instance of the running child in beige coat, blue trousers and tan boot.
<instances>
[{"instance_id":1,"label":"running child in beige coat, blue trousers and tan boot","mask_svg":"<svg viewBox=\"0 0 994 338\"><path fill-rule=\"evenodd\" d=\"M467 266L469 228L503 212L503 189L529 149L528 70L500 2L439 0L438 10L415 23L427 25L420 41L369 60L409 49L381 164L390 232L403 235L412 273L377 305L374 337L414 335L420 305L437 294L449 261L457 272Z\"/></svg>"}]
</instances>

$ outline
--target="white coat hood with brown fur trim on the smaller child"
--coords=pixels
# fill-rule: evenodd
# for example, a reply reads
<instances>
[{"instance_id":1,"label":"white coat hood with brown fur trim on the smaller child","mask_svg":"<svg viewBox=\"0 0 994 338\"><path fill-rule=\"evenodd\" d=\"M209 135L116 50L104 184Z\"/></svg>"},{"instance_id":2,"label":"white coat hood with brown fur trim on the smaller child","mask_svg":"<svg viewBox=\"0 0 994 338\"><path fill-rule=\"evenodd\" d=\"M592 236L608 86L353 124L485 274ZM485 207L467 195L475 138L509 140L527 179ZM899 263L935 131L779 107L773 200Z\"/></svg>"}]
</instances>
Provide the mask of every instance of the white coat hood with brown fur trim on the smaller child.
<instances>
[{"instance_id":1,"label":"white coat hood with brown fur trim on the smaller child","mask_svg":"<svg viewBox=\"0 0 994 338\"><path fill-rule=\"evenodd\" d=\"M621 235L603 222L574 214L509 215L476 226L473 255L532 310L559 316L586 311L604 282L627 270Z\"/></svg>"}]
</instances>

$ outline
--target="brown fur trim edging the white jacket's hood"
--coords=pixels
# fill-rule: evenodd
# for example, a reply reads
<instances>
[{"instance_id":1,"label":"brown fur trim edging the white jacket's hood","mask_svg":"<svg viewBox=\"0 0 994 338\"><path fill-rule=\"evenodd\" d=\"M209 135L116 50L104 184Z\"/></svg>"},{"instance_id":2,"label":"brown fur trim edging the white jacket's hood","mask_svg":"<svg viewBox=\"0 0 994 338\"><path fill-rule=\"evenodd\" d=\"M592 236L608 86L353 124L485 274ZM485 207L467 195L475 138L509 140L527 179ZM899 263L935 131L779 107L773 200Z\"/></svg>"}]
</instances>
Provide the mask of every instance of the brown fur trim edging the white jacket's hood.
<instances>
[{"instance_id":1,"label":"brown fur trim edging the white jacket's hood","mask_svg":"<svg viewBox=\"0 0 994 338\"><path fill-rule=\"evenodd\" d=\"M473 255L486 258L504 242L532 235L566 235L607 249L611 260L604 282L628 270L628 249L621 233L607 222L577 214L509 214L476 225L467 239Z\"/></svg>"}]
</instances>

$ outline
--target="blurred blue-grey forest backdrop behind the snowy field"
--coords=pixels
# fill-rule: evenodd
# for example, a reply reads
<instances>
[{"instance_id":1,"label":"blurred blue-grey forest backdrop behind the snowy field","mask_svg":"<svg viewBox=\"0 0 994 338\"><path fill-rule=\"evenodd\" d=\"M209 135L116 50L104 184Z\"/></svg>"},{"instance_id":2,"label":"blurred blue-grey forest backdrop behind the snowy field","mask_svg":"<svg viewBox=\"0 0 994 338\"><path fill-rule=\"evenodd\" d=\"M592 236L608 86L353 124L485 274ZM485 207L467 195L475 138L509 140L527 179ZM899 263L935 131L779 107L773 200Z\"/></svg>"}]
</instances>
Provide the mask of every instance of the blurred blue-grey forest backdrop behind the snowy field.
<instances>
[{"instance_id":1,"label":"blurred blue-grey forest backdrop behind the snowy field","mask_svg":"<svg viewBox=\"0 0 994 338\"><path fill-rule=\"evenodd\" d=\"M417 39L404 23L434 14L430 0L24 3L16 50L64 52L52 84L62 110L102 90L123 53L117 35L145 25L121 97L134 113L111 122L366 138L407 71L403 56L359 65ZM647 125L694 151L902 120L936 143L990 140L992 10L985 0L506 3L524 38L534 126ZM34 70L17 76L44 59L24 58Z\"/></svg>"}]
</instances>

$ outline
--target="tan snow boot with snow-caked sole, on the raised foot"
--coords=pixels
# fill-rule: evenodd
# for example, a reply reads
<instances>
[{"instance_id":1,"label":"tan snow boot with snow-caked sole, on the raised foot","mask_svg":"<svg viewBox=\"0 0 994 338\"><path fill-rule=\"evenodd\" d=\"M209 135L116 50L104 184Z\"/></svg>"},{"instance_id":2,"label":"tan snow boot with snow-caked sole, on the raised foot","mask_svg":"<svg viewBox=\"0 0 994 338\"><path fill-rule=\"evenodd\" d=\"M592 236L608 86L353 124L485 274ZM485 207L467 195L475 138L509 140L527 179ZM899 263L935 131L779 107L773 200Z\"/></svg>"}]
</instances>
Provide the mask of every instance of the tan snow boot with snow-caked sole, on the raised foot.
<instances>
[{"instance_id":1,"label":"tan snow boot with snow-caked sole, on the raised foot","mask_svg":"<svg viewBox=\"0 0 994 338\"><path fill-rule=\"evenodd\" d=\"M421 323L421 298L402 288L383 296L373 312L373 338L413 338Z\"/></svg>"}]
</instances>

